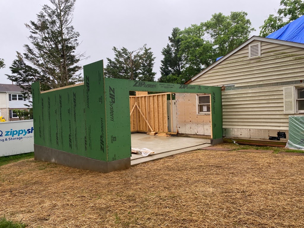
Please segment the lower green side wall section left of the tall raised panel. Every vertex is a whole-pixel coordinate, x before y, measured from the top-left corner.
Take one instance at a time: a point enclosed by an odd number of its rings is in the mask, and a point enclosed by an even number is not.
[[[35,144],[85,156],[83,88],[79,85],[40,94],[39,82],[33,83]]]

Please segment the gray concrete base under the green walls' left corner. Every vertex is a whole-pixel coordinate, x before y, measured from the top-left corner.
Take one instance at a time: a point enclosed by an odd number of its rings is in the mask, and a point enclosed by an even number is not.
[[[34,156],[35,160],[38,161],[52,162],[73,168],[92,170],[102,173],[124,170],[131,167],[130,157],[117,161],[106,162],[36,144],[34,144]]]

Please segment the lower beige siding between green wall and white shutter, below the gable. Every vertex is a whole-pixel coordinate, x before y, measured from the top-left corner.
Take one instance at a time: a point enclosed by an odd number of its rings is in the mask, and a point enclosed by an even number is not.
[[[223,128],[288,130],[283,87],[222,92]]]

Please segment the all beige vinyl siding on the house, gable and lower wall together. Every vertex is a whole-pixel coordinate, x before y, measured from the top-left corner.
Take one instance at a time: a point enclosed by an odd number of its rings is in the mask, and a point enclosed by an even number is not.
[[[260,41],[250,44],[257,42]],[[288,130],[288,116],[291,114],[284,114],[283,86],[238,87],[304,80],[304,49],[261,42],[260,58],[249,59],[248,51],[246,45],[190,84],[234,85],[234,90],[222,92],[224,135],[267,139],[279,130]],[[242,134],[240,130],[246,133]],[[256,132],[254,136],[253,132]],[[260,133],[263,136],[259,136]]]

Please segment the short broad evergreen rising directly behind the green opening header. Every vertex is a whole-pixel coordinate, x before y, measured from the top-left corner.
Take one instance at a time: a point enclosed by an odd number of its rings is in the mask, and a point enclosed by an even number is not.
[[[151,48],[143,47],[129,51],[125,47],[113,47],[114,59],[107,58],[105,77],[123,78],[129,80],[154,81],[154,59]]]

